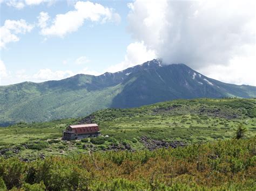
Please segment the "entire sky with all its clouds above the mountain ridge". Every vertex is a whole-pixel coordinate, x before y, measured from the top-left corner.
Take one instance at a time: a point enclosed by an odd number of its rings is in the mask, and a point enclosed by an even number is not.
[[[0,0],[0,86],[154,58],[256,86],[255,1]]]

